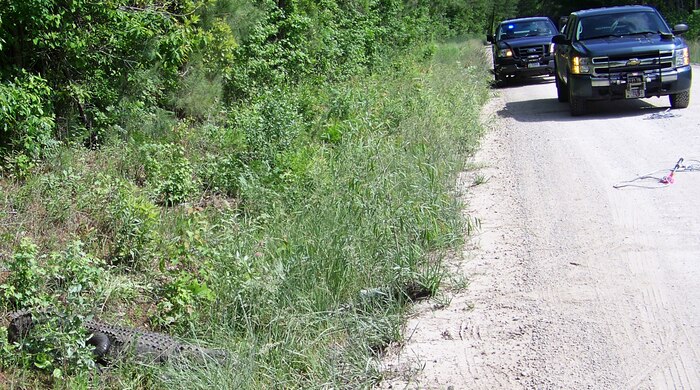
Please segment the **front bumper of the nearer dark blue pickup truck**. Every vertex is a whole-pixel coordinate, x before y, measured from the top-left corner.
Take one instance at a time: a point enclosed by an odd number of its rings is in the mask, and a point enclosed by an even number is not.
[[[641,76],[644,80],[645,98],[673,95],[690,90],[692,70],[690,66],[638,73],[617,73],[609,75],[571,75],[569,83],[572,94],[588,100],[612,100],[627,98],[627,79]],[[642,96],[639,96],[642,97]]]

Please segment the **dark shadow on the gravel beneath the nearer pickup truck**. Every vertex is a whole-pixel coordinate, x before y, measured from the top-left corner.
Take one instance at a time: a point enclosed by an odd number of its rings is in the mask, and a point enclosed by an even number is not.
[[[663,100],[660,100],[663,99]],[[661,107],[650,101],[661,103]],[[588,113],[583,116],[571,116],[568,103],[560,103],[556,97],[507,102],[505,108],[498,111],[501,117],[513,118],[518,122],[541,121],[587,121],[625,117],[644,117],[663,112],[668,106],[668,98],[650,98],[644,100],[594,101],[588,103]],[[664,103],[666,106],[664,106]]]

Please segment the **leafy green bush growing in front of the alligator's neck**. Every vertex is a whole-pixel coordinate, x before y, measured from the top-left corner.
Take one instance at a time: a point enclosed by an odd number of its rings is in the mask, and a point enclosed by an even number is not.
[[[10,277],[0,286],[5,309],[31,308],[32,330],[3,344],[0,361],[47,371],[55,378],[94,369],[92,347],[82,326],[100,303],[102,262],[79,241],[50,256],[38,256],[23,240],[9,262]],[[16,335],[17,336],[17,335]]]

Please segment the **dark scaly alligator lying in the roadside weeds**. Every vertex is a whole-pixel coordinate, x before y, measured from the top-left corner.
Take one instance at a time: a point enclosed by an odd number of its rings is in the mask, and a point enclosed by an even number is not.
[[[56,314],[34,310],[10,313],[7,328],[9,341],[17,342],[26,337],[34,324],[46,315]],[[110,325],[95,320],[83,320],[83,326],[90,333],[88,344],[94,347],[93,354],[99,362],[109,362],[124,356],[153,362],[176,358],[221,361],[228,356],[224,350],[183,343],[163,333]]]

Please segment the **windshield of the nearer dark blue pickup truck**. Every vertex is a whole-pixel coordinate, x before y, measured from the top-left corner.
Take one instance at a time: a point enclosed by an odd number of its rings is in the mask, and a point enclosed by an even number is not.
[[[633,11],[581,18],[576,29],[576,40],[650,33],[669,34],[670,31],[657,13]]]

